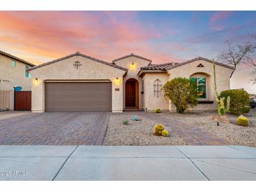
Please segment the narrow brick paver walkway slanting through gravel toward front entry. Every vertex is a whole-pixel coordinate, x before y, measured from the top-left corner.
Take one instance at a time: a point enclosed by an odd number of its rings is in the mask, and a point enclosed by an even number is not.
[[[151,118],[157,123],[161,123],[170,130],[173,130],[175,134],[179,135],[188,145],[228,145],[224,139],[221,139],[215,135],[211,135],[208,132],[201,130],[194,125],[189,125],[181,121],[176,121],[170,118],[164,118],[161,114],[143,113],[143,116]]]

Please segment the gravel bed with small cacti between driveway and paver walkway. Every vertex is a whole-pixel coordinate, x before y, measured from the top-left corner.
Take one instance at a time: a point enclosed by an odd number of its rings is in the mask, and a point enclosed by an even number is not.
[[[132,121],[132,114],[113,115],[109,118],[107,133],[103,145],[185,145],[182,138],[166,128],[169,137],[153,135],[155,121],[140,116],[140,121]],[[129,125],[123,125],[128,119]]]

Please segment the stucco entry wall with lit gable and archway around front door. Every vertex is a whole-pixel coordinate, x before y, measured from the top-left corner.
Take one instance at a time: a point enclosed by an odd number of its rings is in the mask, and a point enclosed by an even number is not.
[[[132,67],[133,63],[134,63],[134,67]],[[128,73],[123,78],[123,107],[126,107],[125,83],[129,78],[135,78],[139,83],[139,108],[144,109],[144,102],[143,102],[144,95],[142,94],[142,78],[137,76],[137,73],[140,71],[140,67],[146,67],[149,64],[149,61],[131,56],[122,60],[118,60],[115,62],[115,64],[128,69]]]

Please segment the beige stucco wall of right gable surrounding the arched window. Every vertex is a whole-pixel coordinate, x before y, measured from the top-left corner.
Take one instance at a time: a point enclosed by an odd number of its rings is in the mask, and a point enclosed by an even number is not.
[[[203,64],[204,67],[197,67],[198,64]],[[220,94],[222,90],[230,89],[230,74],[232,69],[227,67],[222,67],[220,65],[216,66],[216,83],[217,83],[217,92]],[[204,60],[197,60],[188,64],[184,64],[180,67],[170,69],[168,71],[170,74],[169,81],[175,77],[195,77],[195,76],[204,76],[206,77],[206,100],[215,101],[215,92],[214,92],[214,79],[213,79],[213,64],[206,62]],[[203,100],[203,99],[202,99]],[[175,108],[172,104],[169,105],[170,111],[174,111]],[[197,107],[191,110],[214,110],[216,109],[216,104],[198,104]]]

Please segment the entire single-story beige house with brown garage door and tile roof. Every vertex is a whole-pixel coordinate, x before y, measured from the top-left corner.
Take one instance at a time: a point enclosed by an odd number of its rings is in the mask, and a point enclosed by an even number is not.
[[[194,110],[214,110],[213,63],[203,57],[182,63],[151,64],[139,55],[112,63],[74,53],[28,69],[32,74],[32,111],[112,111],[175,108],[161,87],[172,78],[198,83],[199,104]],[[216,62],[217,89],[229,89],[234,68]]]

